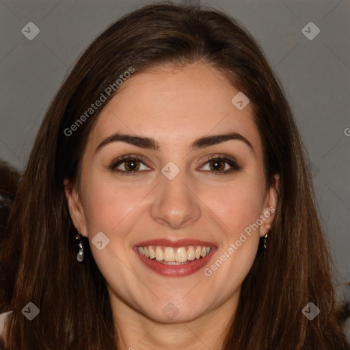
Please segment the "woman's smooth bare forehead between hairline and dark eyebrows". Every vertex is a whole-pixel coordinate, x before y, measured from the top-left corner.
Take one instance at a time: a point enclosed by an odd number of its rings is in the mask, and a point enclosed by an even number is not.
[[[239,110],[232,103],[237,93],[218,70],[202,63],[134,73],[100,112],[89,144],[122,132],[153,137],[165,150],[234,131],[260,150],[251,106]]]

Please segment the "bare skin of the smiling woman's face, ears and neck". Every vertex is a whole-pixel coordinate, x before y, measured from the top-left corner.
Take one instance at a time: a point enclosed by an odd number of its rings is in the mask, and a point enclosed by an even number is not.
[[[273,213],[241,243],[235,243],[260,215],[276,207],[276,187],[266,189],[262,145],[252,109],[237,109],[237,94],[217,70],[201,62],[185,68],[163,67],[132,75],[105,106],[83,154],[80,191],[66,196],[76,228],[88,237],[94,259],[107,280],[120,349],[219,350],[224,331],[239,301],[241,284],[252,267],[258,241]],[[114,133],[152,137],[159,150],[125,142],[98,145]],[[240,139],[191,150],[199,137],[239,133]],[[111,170],[124,155],[137,155]],[[234,159],[239,170],[209,158]],[[168,162],[180,171],[169,180],[161,170]],[[214,162],[215,163],[215,162]],[[117,171],[120,170],[121,172]],[[219,169],[219,170],[217,170]],[[225,172],[226,174],[213,174]],[[266,216],[266,215],[265,215]],[[109,244],[98,250],[98,232]],[[169,277],[146,267],[133,247],[152,239],[199,239],[217,247],[207,269],[226,252],[226,261],[211,275],[204,268]],[[207,270],[208,271],[208,270]],[[163,309],[174,304],[170,319]]]

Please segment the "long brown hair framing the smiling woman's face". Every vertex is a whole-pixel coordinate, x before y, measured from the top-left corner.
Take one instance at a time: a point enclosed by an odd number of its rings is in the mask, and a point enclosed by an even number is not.
[[[71,135],[66,130],[129,68],[137,74],[198,61],[224,72],[249,96],[267,186],[280,174],[269,251],[258,250],[223,349],[347,349],[307,153],[278,78],[257,42],[233,18],[169,1],[146,5],[103,31],[46,113],[0,256],[5,286],[0,310],[14,310],[9,349],[118,349],[105,279],[84,238],[85,259],[77,262],[76,230],[64,194],[65,177],[79,183],[87,135],[102,108]],[[105,94],[105,104],[113,94]],[[21,313],[29,301],[40,309],[32,321]],[[301,312],[309,302],[321,310],[312,321]]]

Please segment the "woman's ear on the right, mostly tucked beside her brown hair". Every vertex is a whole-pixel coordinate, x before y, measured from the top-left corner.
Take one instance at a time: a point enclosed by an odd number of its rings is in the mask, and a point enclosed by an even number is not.
[[[280,175],[273,175],[273,181],[265,198],[264,208],[262,210],[262,225],[260,226],[260,237],[264,237],[267,229],[271,228],[273,217],[277,208],[278,189],[280,186]]]

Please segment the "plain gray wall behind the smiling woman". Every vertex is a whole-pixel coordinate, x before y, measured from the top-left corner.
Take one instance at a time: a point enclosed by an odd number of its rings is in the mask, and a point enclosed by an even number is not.
[[[46,108],[77,58],[110,23],[146,3],[0,1],[0,159],[25,168]],[[282,81],[310,155],[339,282],[349,281],[350,0],[201,3],[243,24]],[[301,32],[310,21],[320,29],[313,40]],[[33,40],[21,32],[29,22],[40,29]]]

